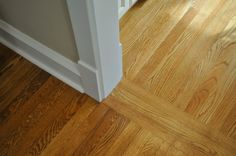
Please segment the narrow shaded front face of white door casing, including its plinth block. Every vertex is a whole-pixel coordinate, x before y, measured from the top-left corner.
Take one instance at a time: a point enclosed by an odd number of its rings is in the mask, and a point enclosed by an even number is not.
[[[85,0],[67,0],[67,6],[80,60],[80,72],[85,92],[98,101],[103,99],[94,54],[88,6]],[[89,70],[87,70],[89,69]]]

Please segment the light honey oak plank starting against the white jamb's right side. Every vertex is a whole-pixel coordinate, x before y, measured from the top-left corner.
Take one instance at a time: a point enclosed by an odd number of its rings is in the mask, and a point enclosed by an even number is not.
[[[170,4],[163,4],[163,6],[160,6],[160,9],[157,10],[155,16],[152,16],[155,18],[152,19],[150,23],[148,23],[148,26],[144,27],[148,29],[146,29],[143,33],[137,32],[140,37],[133,43],[131,48],[124,50],[123,68],[124,76],[126,76],[126,78],[133,79],[136,76],[146,61],[153,55],[156,48],[165,39],[165,36],[170,33],[172,28],[176,25],[176,23],[179,22],[179,20],[185,14],[185,11],[189,8],[189,3],[187,3],[187,1],[180,1],[178,4],[176,4],[176,1],[167,1],[166,3]],[[174,14],[175,16],[172,17],[170,14]],[[192,15],[194,16],[194,13],[187,16],[190,16],[189,18],[191,18]],[[171,20],[172,18],[173,20]],[[124,38],[128,38],[127,34],[124,34],[124,36]],[[130,41],[121,41],[124,45],[131,44]]]

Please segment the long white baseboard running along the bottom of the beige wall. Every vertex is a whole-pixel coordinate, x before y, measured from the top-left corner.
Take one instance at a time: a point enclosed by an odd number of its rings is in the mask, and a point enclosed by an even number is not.
[[[69,86],[84,93],[80,65],[2,20],[0,20],[0,42]],[[83,68],[86,70],[86,67]]]

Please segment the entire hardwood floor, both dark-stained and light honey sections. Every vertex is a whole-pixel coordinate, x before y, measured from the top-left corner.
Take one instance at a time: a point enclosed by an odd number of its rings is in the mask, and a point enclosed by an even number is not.
[[[236,1],[139,0],[102,103],[0,45],[0,155],[236,155]]]

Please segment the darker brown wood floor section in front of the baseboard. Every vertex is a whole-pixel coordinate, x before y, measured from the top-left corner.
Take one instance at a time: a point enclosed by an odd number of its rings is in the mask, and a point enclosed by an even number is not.
[[[44,155],[86,155],[96,143],[114,142],[127,125],[3,45],[0,58],[0,155],[39,155],[47,146]]]

